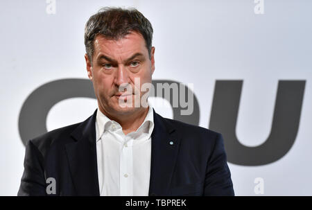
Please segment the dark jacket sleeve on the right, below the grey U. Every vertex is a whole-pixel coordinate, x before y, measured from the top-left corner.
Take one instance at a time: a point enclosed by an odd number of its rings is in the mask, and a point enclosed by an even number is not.
[[[204,195],[234,195],[222,135],[217,134],[215,141],[207,164]]]

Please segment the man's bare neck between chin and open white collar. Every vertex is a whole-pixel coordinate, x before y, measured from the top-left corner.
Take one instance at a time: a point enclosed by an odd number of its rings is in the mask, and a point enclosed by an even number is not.
[[[144,122],[146,115],[148,114],[149,107],[141,107],[137,112],[131,114],[125,114],[121,116],[112,116],[106,112],[103,112],[110,120],[116,121],[123,128],[123,133],[128,134],[130,132],[136,131],[140,125]]]

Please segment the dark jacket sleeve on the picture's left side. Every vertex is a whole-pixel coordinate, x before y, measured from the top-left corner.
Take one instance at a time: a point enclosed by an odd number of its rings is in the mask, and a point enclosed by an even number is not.
[[[30,140],[26,143],[24,173],[21,177],[18,196],[46,195],[44,178],[44,158]]]

